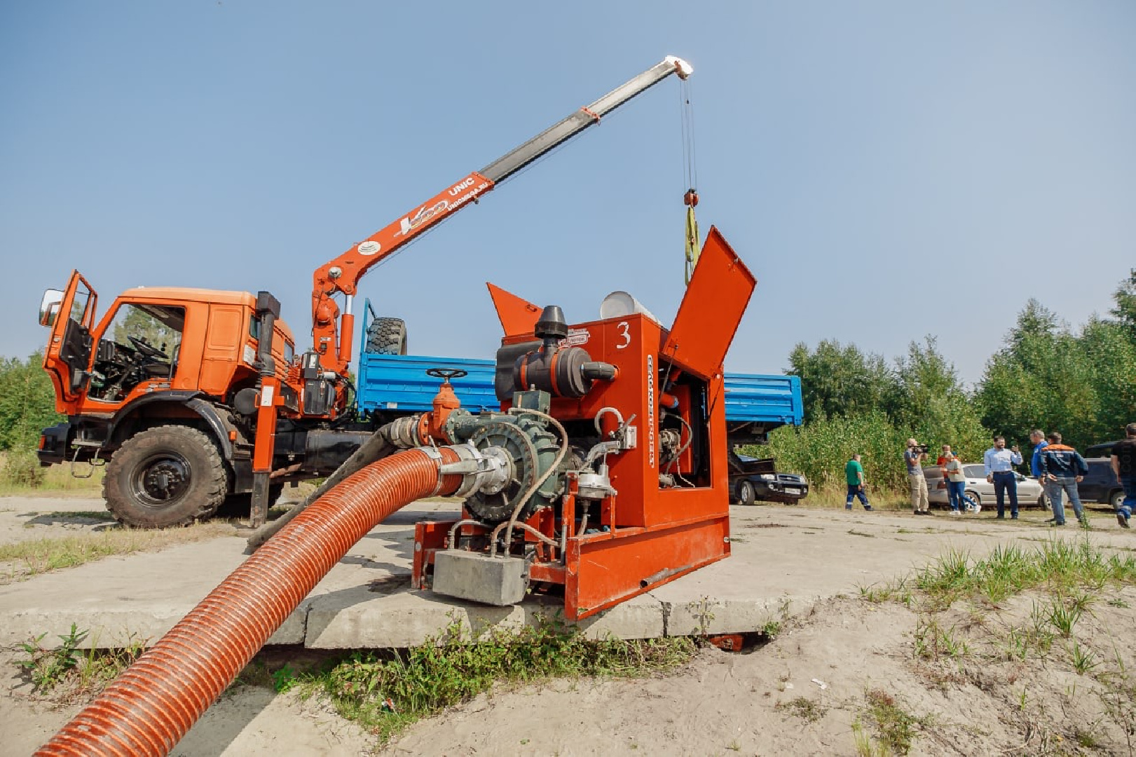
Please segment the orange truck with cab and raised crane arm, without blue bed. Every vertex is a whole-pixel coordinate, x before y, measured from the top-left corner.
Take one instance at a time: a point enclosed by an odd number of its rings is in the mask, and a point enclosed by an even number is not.
[[[128,525],[192,523],[228,498],[259,526],[285,483],[335,472],[375,431],[350,411],[362,275],[635,95],[691,72],[667,57],[317,268],[312,347],[299,356],[268,292],[136,288],[99,318],[95,291],[73,272],[40,306],[50,328],[43,367],[67,416],[43,431],[41,464],[106,463],[107,507]],[[401,322],[379,319],[370,335],[373,351],[406,352]]]

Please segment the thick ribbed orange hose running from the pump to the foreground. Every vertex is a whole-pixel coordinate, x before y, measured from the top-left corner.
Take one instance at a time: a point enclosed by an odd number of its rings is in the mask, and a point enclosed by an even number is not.
[[[431,450],[433,451],[433,450]],[[458,454],[374,463],[300,513],[118,676],[36,755],[168,755],[357,541],[416,499],[456,491]]]

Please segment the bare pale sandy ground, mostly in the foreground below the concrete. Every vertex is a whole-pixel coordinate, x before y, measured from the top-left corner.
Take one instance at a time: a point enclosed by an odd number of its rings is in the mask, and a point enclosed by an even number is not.
[[[0,499],[0,543],[103,527],[103,521],[67,515],[99,506],[73,498]],[[763,510],[751,508],[745,516],[760,523]],[[949,522],[875,517],[921,530]],[[1097,521],[1102,527],[1110,522]],[[862,541],[854,530],[824,534]],[[1037,524],[1020,531],[1022,539],[1039,534]],[[950,539],[944,531],[944,549]],[[1136,539],[1130,547],[1118,543],[1120,550],[1136,550]],[[825,552],[818,541],[817,559]],[[897,565],[896,572],[907,567]],[[382,749],[319,702],[240,687],[226,692],[173,754],[855,755],[855,724],[879,735],[869,714],[871,691],[914,718],[914,755],[1136,754],[1136,737],[1126,733],[1136,723],[1136,701],[1126,698],[1110,709],[1110,691],[1072,671],[1071,640],[1058,639],[1045,659],[1000,657],[1008,629],[1027,623],[1042,600],[1027,594],[983,613],[955,606],[939,614],[938,622],[966,640],[972,654],[925,659],[914,654],[914,640],[925,632],[926,615],[853,596],[830,598],[807,616],[788,619],[780,635],[755,649],[709,649],[668,676],[499,690],[416,724]],[[1080,622],[1077,640],[1095,650],[1096,672],[1109,666],[1136,671],[1133,608],[1136,590],[1106,589]],[[20,656],[0,652],[0,755],[31,754],[80,709],[36,697],[16,665]]]

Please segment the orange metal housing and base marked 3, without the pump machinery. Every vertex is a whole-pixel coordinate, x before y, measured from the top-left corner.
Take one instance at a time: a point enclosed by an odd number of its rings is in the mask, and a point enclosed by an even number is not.
[[[551,415],[561,423],[592,421],[602,408],[616,408],[636,427],[637,443],[608,457],[617,494],[592,514],[590,523],[600,531],[590,527],[587,533],[570,535],[562,563],[537,559],[529,569],[531,581],[563,584],[568,619],[593,615],[729,555],[722,363],[755,283],[726,240],[711,228],[670,331],[638,313],[570,326],[568,341],[586,349],[593,360],[615,365],[618,374],[613,381],[596,382],[580,399],[554,398]],[[502,343],[531,341],[532,331],[520,331],[532,314],[518,306],[524,300],[508,292],[507,298],[493,294],[495,302],[508,308],[499,313],[508,334]],[[667,386],[671,381],[674,386]],[[708,463],[699,469],[692,467],[690,452],[670,465],[660,459],[660,394],[665,391],[678,399],[677,411],[700,440],[700,455]],[[676,485],[662,485],[660,474],[680,479]],[[685,484],[678,483],[682,480]],[[571,483],[568,489],[560,523],[571,529],[578,504]],[[444,548],[451,525],[418,524],[415,587],[428,582],[433,552]],[[553,535],[541,510],[528,525]],[[478,526],[462,529],[474,533]]]

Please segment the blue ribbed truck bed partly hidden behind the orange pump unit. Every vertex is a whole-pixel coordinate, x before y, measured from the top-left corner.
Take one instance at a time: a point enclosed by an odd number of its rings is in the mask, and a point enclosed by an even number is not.
[[[358,402],[361,413],[399,416],[429,410],[441,381],[427,368],[461,368],[468,375],[454,378],[453,391],[470,413],[499,410],[493,392],[493,360],[428,355],[359,356]],[[746,373],[726,373],[726,424],[733,441],[762,441],[783,425],[800,425],[801,380]]]

